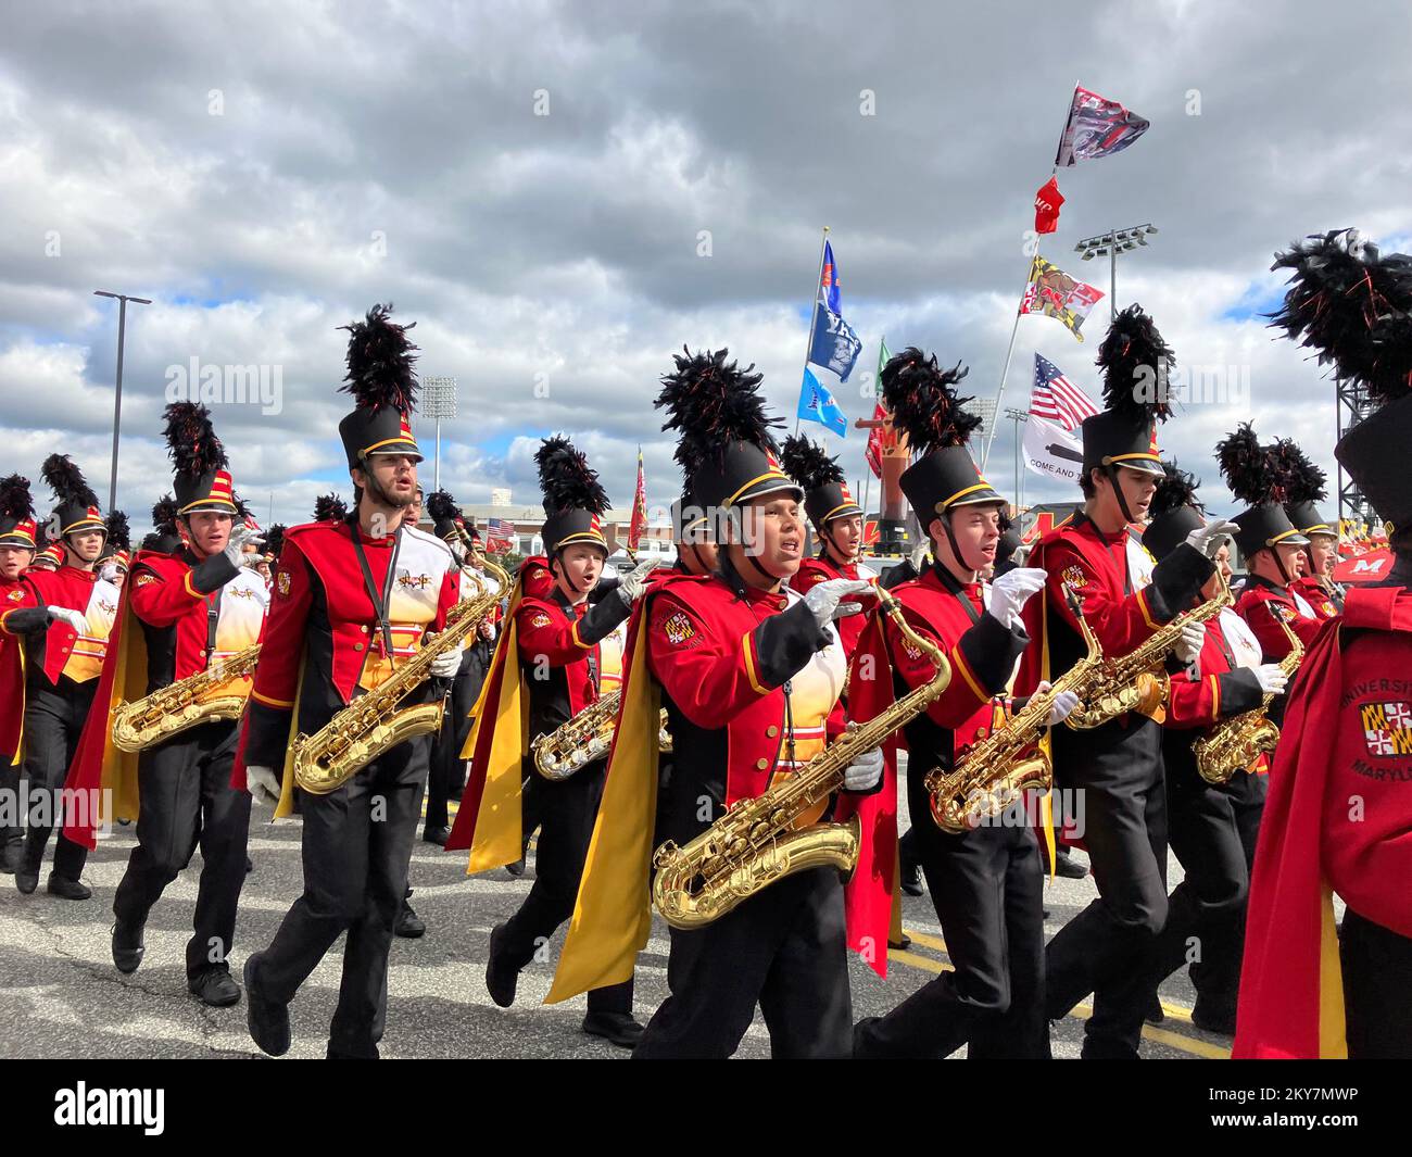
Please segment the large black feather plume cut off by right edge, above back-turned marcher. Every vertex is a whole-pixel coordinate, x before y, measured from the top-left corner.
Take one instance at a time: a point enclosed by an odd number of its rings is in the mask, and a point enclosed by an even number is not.
[[[1292,271],[1271,328],[1377,404],[1412,394],[1412,257],[1382,257],[1356,229],[1336,229],[1295,242],[1271,268]]]

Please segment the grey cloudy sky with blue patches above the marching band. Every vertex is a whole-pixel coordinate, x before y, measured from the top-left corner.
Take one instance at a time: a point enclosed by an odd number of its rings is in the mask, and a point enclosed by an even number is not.
[[[195,359],[278,381],[273,407],[213,410],[237,489],[302,521],[350,489],[337,326],[393,301],[422,373],[459,380],[457,499],[534,502],[537,439],[565,431],[618,504],[641,444],[665,503],[650,400],[683,343],[758,363],[792,428],[825,225],[864,340],[850,420],[882,335],[966,362],[991,397],[1079,81],[1152,127],[1059,175],[1042,251],[1106,290],[1075,242],[1159,226],[1121,260],[1118,301],[1179,366],[1248,383],[1162,435],[1228,510],[1210,448],[1243,418],[1333,468],[1333,384],[1265,328],[1268,268],[1350,225],[1405,247],[1409,20],[1151,0],[25,6],[0,44],[3,469],[47,503],[38,463],[66,449],[106,504],[117,307],[93,291],[127,292],[152,304],[128,311],[119,506],[141,528],[168,489],[164,393]],[[1083,345],[1024,318],[1005,403],[1028,398],[1036,350],[1097,397],[1106,307]],[[863,476],[858,431],[806,429]],[[1012,449],[1005,422],[988,473],[1007,492]],[[1025,497],[1070,494],[1031,475]]]

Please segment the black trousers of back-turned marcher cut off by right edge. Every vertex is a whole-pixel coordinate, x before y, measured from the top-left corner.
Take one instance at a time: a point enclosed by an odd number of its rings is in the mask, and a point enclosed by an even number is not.
[[[1406,887],[1406,880],[1398,882]],[[1339,935],[1343,1010],[1351,1061],[1412,1060],[1412,938],[1353,908]]]

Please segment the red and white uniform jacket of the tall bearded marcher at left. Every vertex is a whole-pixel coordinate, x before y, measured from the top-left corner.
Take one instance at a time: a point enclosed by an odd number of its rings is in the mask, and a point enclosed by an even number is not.
[[[380,599],[397,544],[391,655],[376,626],[378,609],[367,592],[354,534]],[[284,766],[295,712],[298,729],[313,735],[356,694],[377,687],[417,654],[422,634],[445,626],[457,591],[450,550],[424,531],[402,527],[398,535],[370,538],[354,521],[289,527],[232,783],[244,788],[247,763]],[[422,698],[426,694],[424,687]],[[417,701],[414,695],[408,702]]]

